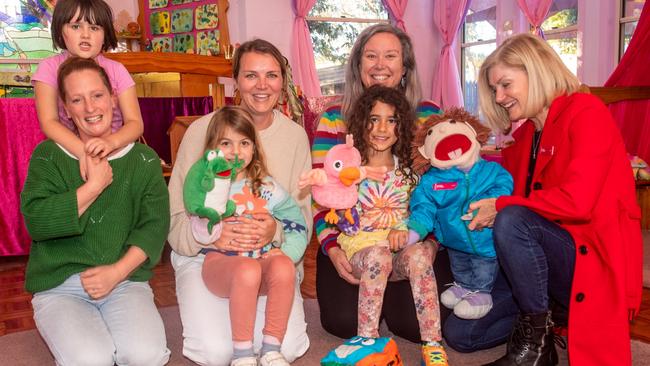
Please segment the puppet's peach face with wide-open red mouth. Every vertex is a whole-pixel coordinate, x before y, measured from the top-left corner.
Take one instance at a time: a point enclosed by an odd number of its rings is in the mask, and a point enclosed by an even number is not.
[[[424,145],[418,150],[439,169],[458,167],[467,170],[478,160],[481,145],[476,131],[466,122],[452,119],[429,128]]]

